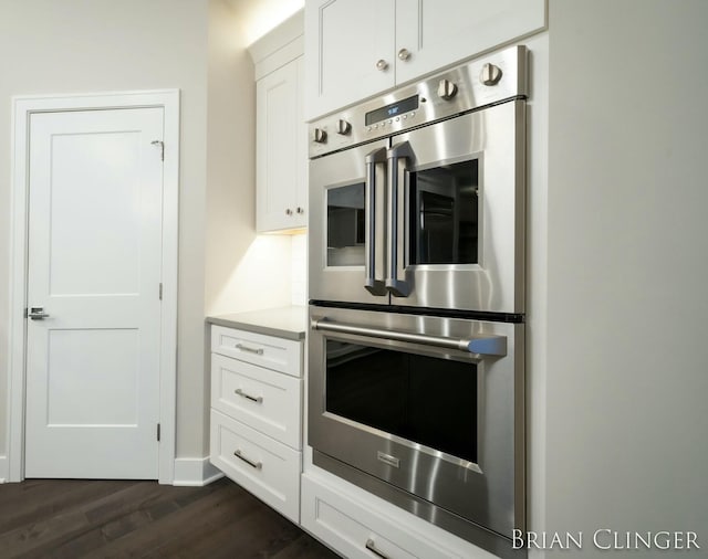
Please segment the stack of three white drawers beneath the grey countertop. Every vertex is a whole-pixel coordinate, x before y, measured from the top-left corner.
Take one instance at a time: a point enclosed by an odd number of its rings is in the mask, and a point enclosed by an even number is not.
[[[211,463],[294,523],[302,472],[302,341],[211,326]]]

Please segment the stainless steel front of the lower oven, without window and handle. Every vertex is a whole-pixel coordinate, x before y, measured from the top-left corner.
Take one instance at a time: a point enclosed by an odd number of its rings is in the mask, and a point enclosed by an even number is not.
[[[311,330],[309,444],[384,485],[410,494],[414,500],[435,504],[506,538],[511,538],[514,528],[523,530],[523,325],[314,306],[310,307],[310,314],[312,321],[343,323],[362,328],[362,333],[374,328],[460,339],[506,337],[506,357],[483,357],[416,341]],[[327,412],[327,339],[475,363],[478,371],[477,462],[450,456]],[[379,460],[379,453],[398,460],[398,467]],[[436,523],[435,518],[430,521]]]

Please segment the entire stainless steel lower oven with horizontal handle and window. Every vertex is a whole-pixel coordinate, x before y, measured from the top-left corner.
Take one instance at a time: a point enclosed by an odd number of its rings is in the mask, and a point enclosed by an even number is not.
[[[391,310],[310,307],[313,462],[513,556],[525,528],[523,324]]]

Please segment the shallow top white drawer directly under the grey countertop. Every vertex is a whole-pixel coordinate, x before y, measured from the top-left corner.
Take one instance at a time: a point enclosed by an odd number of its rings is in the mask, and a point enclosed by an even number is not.
[[[211,325],[211,351],[292,377],[302,376],[302,342]]]

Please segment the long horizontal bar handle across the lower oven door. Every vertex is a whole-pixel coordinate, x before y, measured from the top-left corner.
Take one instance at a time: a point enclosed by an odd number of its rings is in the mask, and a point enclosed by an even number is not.
[[[446,338],[442,336],[430,336],[428,334],[417,334],[413,331],[382,330],[369,328],[368,326],[356,326],[353,324],[334,323],[327,318],[313,319],[311,323],[313,330],[333,331],[337,334],[352,334],[354,336],[366,336],[369,338],[389,339],[394,341],[409,341],[425,346],[435,346],[446,349],[459,349],[470,354],[481,356],[506,356],[507,337],[496,335],[475,336],[471,338]]]

